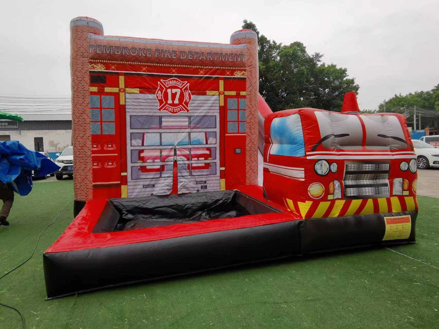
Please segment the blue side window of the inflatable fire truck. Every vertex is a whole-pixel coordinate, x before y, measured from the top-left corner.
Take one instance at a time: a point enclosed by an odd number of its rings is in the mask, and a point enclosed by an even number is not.
[[[273,145],[270,154],[303,156],[305,143],[303,141],[302,122],[299,114],[273,119],[270,127]]]

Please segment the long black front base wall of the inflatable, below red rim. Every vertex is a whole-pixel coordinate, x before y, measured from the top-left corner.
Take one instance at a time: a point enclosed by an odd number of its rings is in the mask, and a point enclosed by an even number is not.
[[[410,215],[408,239],[383,241],[384,217]],[[47,299],[331,249],[414,242],[417,212],[287,221],[123,246],[44,253]]]

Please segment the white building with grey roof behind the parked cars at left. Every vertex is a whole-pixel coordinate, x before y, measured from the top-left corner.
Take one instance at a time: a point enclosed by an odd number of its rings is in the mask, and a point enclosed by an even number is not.
[[[24,121],[0,120],[0,141],[19,141],[52,158],[72,145],[71,114],[23,114]]]

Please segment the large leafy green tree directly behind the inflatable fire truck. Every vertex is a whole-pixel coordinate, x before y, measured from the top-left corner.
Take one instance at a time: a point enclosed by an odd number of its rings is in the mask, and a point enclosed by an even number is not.
[[[273,111],[313,107],[340,112],[344,94],[358,92],[347,69],[325,64],[323,54],[308,54],[299,41],[283,45],[269,40],[247,20],[242,28],[258,35],[259,93]]]

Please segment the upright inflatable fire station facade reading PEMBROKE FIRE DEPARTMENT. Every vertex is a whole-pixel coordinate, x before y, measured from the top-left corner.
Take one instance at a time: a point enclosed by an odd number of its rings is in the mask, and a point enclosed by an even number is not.
[[[223,44],[104,36],[87,17],[70,28],[75,214],[95,197],[257,184],[255,32]]]

